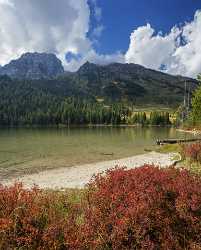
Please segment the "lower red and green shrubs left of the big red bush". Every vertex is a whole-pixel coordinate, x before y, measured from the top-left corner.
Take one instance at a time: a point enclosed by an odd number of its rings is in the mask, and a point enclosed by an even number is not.
[[[79,215],[62,194],[0,186],[0,249],[78,249]]]

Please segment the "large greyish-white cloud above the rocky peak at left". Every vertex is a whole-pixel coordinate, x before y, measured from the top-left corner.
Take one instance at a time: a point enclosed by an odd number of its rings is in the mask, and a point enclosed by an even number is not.
[[[0,64],[24,52],[65,53],[91,48],[87,0],[0,0]]]

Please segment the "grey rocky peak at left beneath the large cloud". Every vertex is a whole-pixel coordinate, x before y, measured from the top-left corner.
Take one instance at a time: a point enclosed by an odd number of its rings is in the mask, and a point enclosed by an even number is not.
[[[64,73],[61,61],[48,53],[25,53],[0,68],[0,75],[14,79],[55,78]]]

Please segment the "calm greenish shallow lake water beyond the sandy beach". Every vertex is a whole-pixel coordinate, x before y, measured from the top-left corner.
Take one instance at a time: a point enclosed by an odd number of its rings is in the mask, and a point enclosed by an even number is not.
[[[0,180],[47,168],[118,159],[154,149],[156,139],[185,138],[174,128],[0,129]]]

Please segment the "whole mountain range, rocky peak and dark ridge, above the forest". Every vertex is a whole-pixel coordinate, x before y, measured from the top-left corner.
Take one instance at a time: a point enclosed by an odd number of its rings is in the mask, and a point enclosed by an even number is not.
[[[20,89],[23,86],[27,89],[31,86],[34,91],[38,89],[56,98],[74,96],[97,102],[137,105],[178,105],[183,101],[185,83],[190,93],[197,86],[195,79],[132,63],[102,66],[86,62],[77,72],[64,72],[61,61],[54,54],[47,53],[26,53],[0,68],[0,75],[10,78],[8,82],[12,88],[20,85]],[[0,80],[0,87],[4,79]]]

